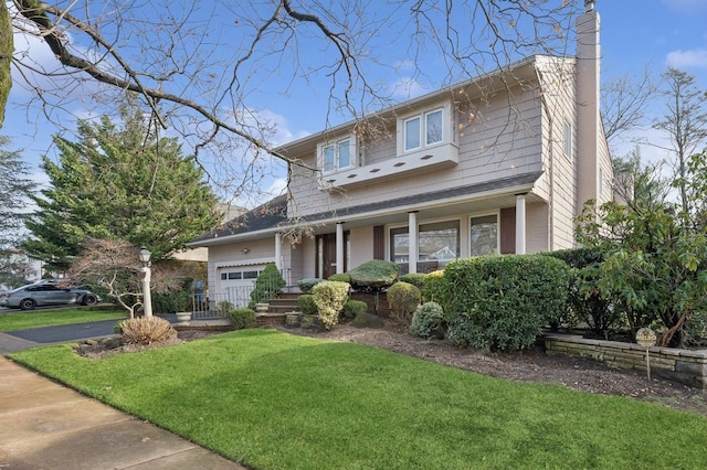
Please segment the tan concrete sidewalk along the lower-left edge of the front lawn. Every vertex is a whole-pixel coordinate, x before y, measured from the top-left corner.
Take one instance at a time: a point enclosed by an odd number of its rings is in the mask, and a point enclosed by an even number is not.
[[[1,469],[244,469],[7,357],[0,377]]]

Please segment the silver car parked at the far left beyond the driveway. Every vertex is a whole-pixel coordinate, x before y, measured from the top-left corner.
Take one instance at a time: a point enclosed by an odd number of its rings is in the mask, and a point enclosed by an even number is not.
[[[18,287],[0,297],[0,307],[32,310],[35,307],[97,303],[98,296],[86,289],[62,289],[54,282],[39,281]]]

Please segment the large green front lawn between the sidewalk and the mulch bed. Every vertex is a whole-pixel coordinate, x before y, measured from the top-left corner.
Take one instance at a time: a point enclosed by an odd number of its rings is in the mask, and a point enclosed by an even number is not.
[[[10,356],[256,469],[707,468],[699,415],[273,330]]]

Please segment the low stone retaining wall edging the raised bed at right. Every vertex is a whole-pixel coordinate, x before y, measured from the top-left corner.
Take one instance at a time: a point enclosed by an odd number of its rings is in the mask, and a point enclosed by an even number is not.
[[[645,348],[619,341],[589,340],[580,335],[547,333],[545,350],[550,355],[591,357],[614,368],[645,371]],[[707,389],[707,350],[690,351],[653,346],[651,375]]]

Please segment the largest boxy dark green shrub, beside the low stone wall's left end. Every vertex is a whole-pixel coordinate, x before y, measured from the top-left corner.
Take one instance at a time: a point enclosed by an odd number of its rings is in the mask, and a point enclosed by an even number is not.
[[[547,255],[453,261],[441,296],[450,339],[473,348],[527,348],[562,313],[569,281],[568,266]]]

